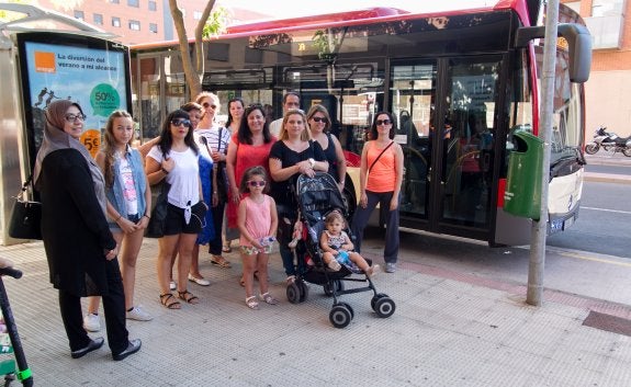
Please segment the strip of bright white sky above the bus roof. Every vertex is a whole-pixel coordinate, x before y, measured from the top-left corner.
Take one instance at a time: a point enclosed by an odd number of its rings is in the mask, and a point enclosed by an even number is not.
[[[269,14],[269,19],[285,19],[294,16],[307,16],[311,14],[335,13],[341,11],[360,10],[373,7],[398,8],[410,12],[420,12],[421,8],[467,5],[470,8],[496,3],[498,0],[294,0],[294,7],[288,7],[286,0],[216,0],[216,4],[226,8],[241,8],[262,14]],[[455,5],[458,4],[458,5]],[[270,12],[273,10],[273,13]]]

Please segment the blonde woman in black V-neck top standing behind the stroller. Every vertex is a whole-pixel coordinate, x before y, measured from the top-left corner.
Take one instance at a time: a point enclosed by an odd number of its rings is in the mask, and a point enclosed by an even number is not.
[[[319,143],[311,139],[303,111],[289,110],[285,113],[279,140],[270,150],[269,166],[272,177],[271,196],[277,202],[279,213],[279,250],[288,275],[286,281],[291,283],[297,274],[293,253],[288,246],[292,239],[291,229],[297,218],[297,202],[291,185],[295,184],[301,173],[313,178],[315,171],[328,171],[328,161]],[[298,260],[297,270],[304,271],[303,260]]]

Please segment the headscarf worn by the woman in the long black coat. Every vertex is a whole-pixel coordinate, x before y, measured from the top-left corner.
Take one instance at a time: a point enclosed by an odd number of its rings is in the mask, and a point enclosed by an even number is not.
[[[77,106],[81,114],[83,111],[81,106],[79,106],[75,102],[70,102],[68,100],[58,100],[48,105],[46,110],[46,126],[44,127],[44,139],[42,141],[42,146],[40,147],[40,151],[37,151],[37,158],[35,159],[35,169],[33,171],[33,182],[35,183],[35,187],[40,187],[40,174],[42,173],[42,163],[48,153],[59,150],[59,149],[76,149],[81,152],[86,161],[88,161],[88,166],[90,167],[90,173],[92,175],[92,182],[94,183],[94,192],[97,193],[97,198],[99,200],[99,204],[105,213],[105,179],[103,178],[103,173],[101,173],[101,169],[92,159],[92,156],[86,149],[86,147],[75,139],[72,136],[68,135],[64,132],[64,125],[66,119],[66,112],[70,106]]]

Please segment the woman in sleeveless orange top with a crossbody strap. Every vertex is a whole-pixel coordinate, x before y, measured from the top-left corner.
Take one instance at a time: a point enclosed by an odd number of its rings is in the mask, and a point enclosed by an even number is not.
[[[393,140],[394,133],[392,114],[379,112],[370,128],[369,141],[364,144],[361,152],[360,198],[352,221],[352,232],[357,238],[354,249],[360,252],[363,229],[370,214],[378,203],[381,208],[388,208],[385,215],[386,232],[383,252],[386,273],[396,271],[398,204],[403,182],[403,150]]]

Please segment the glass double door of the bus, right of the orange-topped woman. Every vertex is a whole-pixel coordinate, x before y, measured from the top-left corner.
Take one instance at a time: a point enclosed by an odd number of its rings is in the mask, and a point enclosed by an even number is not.
[[[485,56],[391,66],[402,226],[488,240],[500,65]]]

